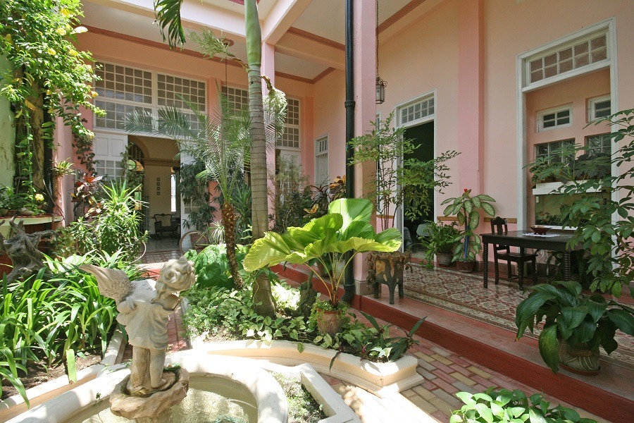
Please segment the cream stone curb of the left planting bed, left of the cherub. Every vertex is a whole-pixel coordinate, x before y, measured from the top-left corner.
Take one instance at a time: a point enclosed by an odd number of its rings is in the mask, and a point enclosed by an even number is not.
[[[123,351],[125,350],[126,343],[123,342],[124,339],[125,335],[123,332],[118,328],[115,329],[113,336],[108,343],[108,347],[106,348],[104,359],[101,360],[99,364],[94,364],[77,372],[76,382],[69,383],[68,376],[64,375],[51,381],[44,382],[44,384],[27,389],[27,398],[29,398],[31,408],[42,404],[47,400],[51,400],[51,398],[61,395],[66,391],[70,391],[70,389],[85,384],[87,381],[91,381],[97,377],[97,374],[99,374],[99,372],[103,369],[116,364],[123,356]],[[20,415],[27,410],[28,408],[20,394],[10,396],[5,400],[0,401],[0,422],[6,422],[6,420]]]

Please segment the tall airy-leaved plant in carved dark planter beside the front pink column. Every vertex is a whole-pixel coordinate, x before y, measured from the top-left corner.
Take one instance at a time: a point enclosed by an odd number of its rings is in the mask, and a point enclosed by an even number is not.
[[[381,228],[393,228],[394,216],[403,207],[409,219],[423,216],[430,209],[430,191],[442,190],[449,185],[445,162],[459,153],[448,151],[433,160],[407,158],[418,148],[405,137],[405,128],[392,128],[394,112],[385,121],[372,122],[371,133],[351,140],[356,150],[351,164],[371,161],[376,164],[376,178],[366,184],[366,195],[375,204]],[[402,284],[403,271],[409,252],[378,253],[368,255],[368,283],[373,283],[378,298],[378,282],[390,286]],[[377,264],[380,262],[380,264]],[[390,300],[393,304],[393,300]]]

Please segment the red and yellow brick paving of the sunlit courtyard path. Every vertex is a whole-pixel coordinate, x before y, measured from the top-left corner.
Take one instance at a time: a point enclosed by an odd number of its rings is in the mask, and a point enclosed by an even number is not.
[[[163,262],[174,258],[174,256],[178,257],[178,255],[178,252],[165,251],[146,255],[147,269],[157,271]],[[156,259],[156,262],[151,262],[151,259]],[[357,315],[359,316],[359,314]],[[380,321],[380,324],[385,323],[385,321]],[[402,333],[395,326],[392,326],[390,330],[395,331],[394,333]],[[168,333],[172,351],[189,348],[180,314],[177,313],[173,319],[170,319]],[[322,377],[335,391],[340,393],[363,423],[449,422],[451,410],[456,410],[461,406],[461,402],[454,396],[456,392],[475,393],[489,386],[511,390],[521,389],[526,393],[537,391],[535,388],[514,381],[493,369],[472,362],[419,336],[416,336],[416,340],[420,344],[412,348],[410,352],[418,357],[417,372],[425,378],[425,382],[402,393],[387,398],[378,398],[346,381],[326,374],[322,374]],[[566,405],[557,398],[549,397],[549,400],[553,403]],[[591,415],[578,407],[575,409],[583,417],[609,423],[609,420]]]

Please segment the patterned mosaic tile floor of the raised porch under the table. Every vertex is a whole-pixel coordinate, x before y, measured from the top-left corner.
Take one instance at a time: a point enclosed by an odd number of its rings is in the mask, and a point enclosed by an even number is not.
[[[412,264],[411,273],[405,273],[405,296],[412,300],[440,307],[457,314],[499,326],[515,333],[515,309],[526,297],[516,283],[500,280],[483,288],[482,276],[463,274],[449,269],[425,269]],[[526,332],[537,338],[539,331]],[[611,355],[602,350],[602,360],[634,369],[634,337],[617,332],[619,348]]]

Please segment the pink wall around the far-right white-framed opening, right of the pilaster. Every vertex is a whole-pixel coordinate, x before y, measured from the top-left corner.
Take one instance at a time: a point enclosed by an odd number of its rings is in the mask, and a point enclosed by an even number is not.
[[[634,102],[634,2],[533,0],[485,2],[485,192],[501,216],[517,215],[518,54],[616,17],[619,106]],[[538,23],[538,24],[536,24]],[[532,130],[532,128],[528,128]]]

